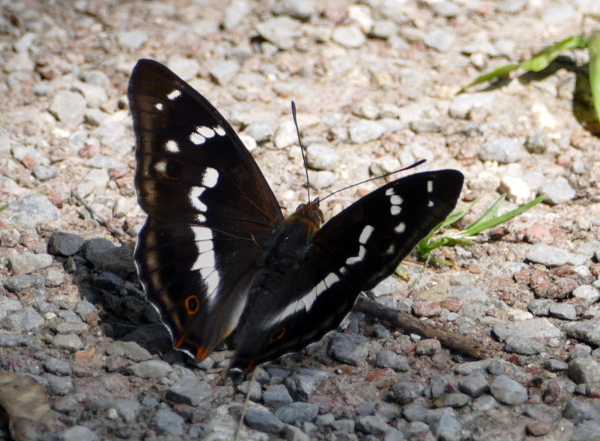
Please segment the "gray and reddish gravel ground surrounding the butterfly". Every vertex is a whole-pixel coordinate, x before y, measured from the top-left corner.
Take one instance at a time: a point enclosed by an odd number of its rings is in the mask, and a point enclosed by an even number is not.
[[[249,389],[248,440],[600,439],[600,143],[576,88],[587,53],[455,96],[483,71],[598,30],[597,0],[7,0],[0,11],[0,406],[15,439],[229,440]],[[465,174],[460,205],[481,202],[464,225],[501,192],[503,210],[546,195],[438,254],[452,266],[429,268],[410,297],[393,278],[369,293],[493,358],[356,312],[252,384],[221,377],[225,344],[202,363],[174,351],[132,261],[144,214],[125,93],[139,58],[220,109],[288,213],[306,198],[292,99],[321,196],[419,159]],[[328,199],[326,217],[375,186]]]

